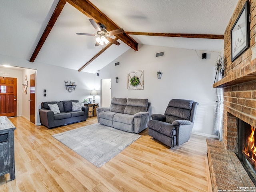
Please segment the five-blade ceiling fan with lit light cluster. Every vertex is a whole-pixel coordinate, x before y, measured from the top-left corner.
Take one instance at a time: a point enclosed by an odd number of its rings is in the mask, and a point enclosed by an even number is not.
[[[120,45],[120,43],[109,36],[117,35],[120,33],[123,33],[123,29],[115,29],[112,31],[107,31],[105,26],[103,24],[98,25],[93,19],[89,19],[92,26],[97,30],[97,34],[90,34],[90,33],[76,33],[78,35],[89,35],[89,36],[98,36],[96,38],[96,44],[95,46],[108,44],[108,42],[111,42],[115,45]]]

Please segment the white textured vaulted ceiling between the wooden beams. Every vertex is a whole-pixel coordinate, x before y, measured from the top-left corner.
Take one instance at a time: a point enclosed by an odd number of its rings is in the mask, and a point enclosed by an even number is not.
[[[124,31],[223,35],[238,0],[91,0]],[[0,55],[30,60],[58,0],[0,4]],[[106,26],[107,27],[107,26]],[[88,17],[66,3],[35,62],[80,69],[101,49]],[[139,44],[221,52],[223,40],[130,35]],[[113,37],[114,38],[114,37]],[[118,40],[84,72],[95,73],[130,49]]]

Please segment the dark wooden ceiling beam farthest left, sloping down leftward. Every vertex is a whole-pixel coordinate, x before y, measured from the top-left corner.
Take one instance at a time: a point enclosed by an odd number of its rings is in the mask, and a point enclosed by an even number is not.
[[[58,19],[58,16],[60,15],[62,9],[64,8],[64,5],[66,4],[66,1],[65,0],[60,0],[52,14],[52,17],[50,18],[45,30],[44,30],[44,33],[42,34],[37,46],[36,46],[36,49],[34,50],[31,58],[30,58],[30,62],[34,62],[34,60],[36,59],[36,56],[38,55],[39,51],[41,50],[46,38],[48,37],[48,35],[50,34],[56,20]]]

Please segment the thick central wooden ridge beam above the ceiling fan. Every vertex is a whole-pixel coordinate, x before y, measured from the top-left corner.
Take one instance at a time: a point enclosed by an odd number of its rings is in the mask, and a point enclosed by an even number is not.
[[[88,18],[93,19],[96,23],[104,24],[108,31],[120,28],[88,0],[66,0],[66,2],[88,16]],[[135,51],[138,51],[138,43],[127,34],[121,33],[115,36]]]

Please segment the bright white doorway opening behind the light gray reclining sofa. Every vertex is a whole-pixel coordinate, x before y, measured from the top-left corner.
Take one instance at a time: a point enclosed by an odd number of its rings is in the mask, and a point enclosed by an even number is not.
[[[111,79],[102,79],[100,82],[100,106],[109,107],[111,104]]]

